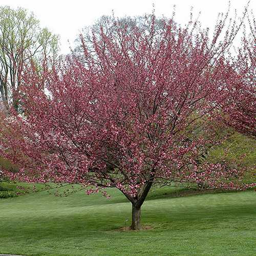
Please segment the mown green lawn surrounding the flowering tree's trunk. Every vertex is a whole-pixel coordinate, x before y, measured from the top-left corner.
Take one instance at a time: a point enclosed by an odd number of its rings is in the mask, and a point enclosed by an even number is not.
[[[174,197],[154,189],[142,206],[153,229],[119,231],[131,205],[119,191],[0,200],[0,253],[23,255],[255,255],[256,193]]]

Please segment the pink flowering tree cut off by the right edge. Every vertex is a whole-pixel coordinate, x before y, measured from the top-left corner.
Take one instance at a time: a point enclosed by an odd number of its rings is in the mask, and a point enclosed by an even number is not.
[[[224,105],[226,123],[237,131],[256,137],[255,113],[255,73],[256,73],[256,21],[253,14],[248,14],[249,33],[242,37],[242,45],[233,66],[238,71],[237,78],[229,87],[229,104]]]

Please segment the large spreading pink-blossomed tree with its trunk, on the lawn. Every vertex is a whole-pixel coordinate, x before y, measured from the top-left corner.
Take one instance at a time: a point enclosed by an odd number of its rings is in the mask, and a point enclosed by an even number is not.
[[[87,192],[116,187],[132,203],[132,229],[153,184],[200,183],[245,188],[232,182],[239,170],[201,161],[218,143],[220,106],[237,72],[225,52],[239,26],[227,16],[208,30],[197,22],[181,28],[173,19],[144,17],[150,30],[109,20],[115,33],[81,37],[83,59],[69,56],[54,72],[24,77],[24,115],[4,119],[1,149],[22,166],[13,179],[79,183]],[[94,34],[94,31],[92,31]]]

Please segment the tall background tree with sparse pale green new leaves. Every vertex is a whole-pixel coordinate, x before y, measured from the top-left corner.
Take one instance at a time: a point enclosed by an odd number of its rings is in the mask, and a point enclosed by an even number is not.
[[[56,60],[58,36],[39,27],[33,13],[26,9],[0,7],[0,92],[5,110],[17,109],[18,92],[25,66],[31,60]]]

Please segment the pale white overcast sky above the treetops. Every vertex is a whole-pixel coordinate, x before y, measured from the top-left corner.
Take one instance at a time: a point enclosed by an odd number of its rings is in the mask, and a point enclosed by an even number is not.
[[[247,0],[230,0],[232,9],[242,14]],[[205,27],[213,28],[219,12],[226,12],[228,0],[0,0],[0,6],[23,7],[32,11],[40,20],[41,27],[60,36],[62,54],[70,47],[81,29],[92,25],[100,16],[136,16],[151,13],[171,17],[176,5],[176,22],[185,24],[189,19],[190,7],[195,16],[201,11],[200,20]],[[251,0],[250,9],[256,11],[256,0]]]

